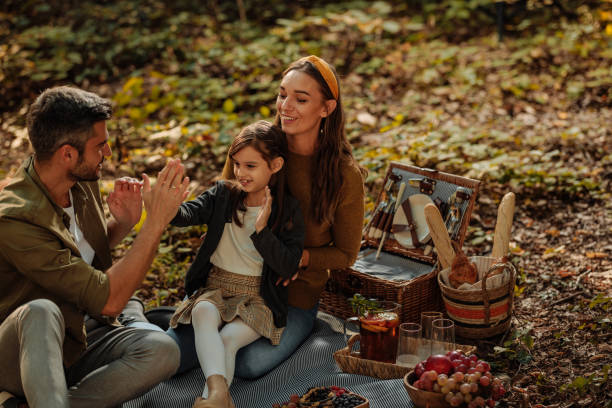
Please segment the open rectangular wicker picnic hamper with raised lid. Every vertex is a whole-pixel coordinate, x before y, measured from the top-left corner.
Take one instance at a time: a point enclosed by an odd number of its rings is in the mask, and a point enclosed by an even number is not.
[[[480,181],[400,162],[390,163],[383,185],[386,185],[389,179],[393,177],[401,178],[406,182],[417,178],[428,183],[427,186],[423,187],[408,185],[403,195],[404,201],[410,196],[421,194],[428,187],[431,188],[428,194],[432,199],[443,199],[443,201],[447,201],[458,189],[469,192],[469,198],[465,199],[460,205],[462,215],[456,233],[452,237],[459,245],[463,243],[478,195]],[[382,189],[379,192],[376,205],[380,204],[381,201],[388,201],[389,196],[392,195]],[[377,276],[368,268],[358,270],[356,265],[330,271],[330,278],[321,294],[320,309],[343,319],[354,316],[347,298],[352,297],[355,293],[360,293],[366,298],[399,303],[402,306],[402,322],[418,322],[421,312],[424,311],[443,311],[444,305],[436,280],[438,273],[437,255],[431,250],[431,244],[420,245],[417,248],[407,248],[396,240],[395,234],[391,233],[386,240],[383,240],[383,245],[380,245],[380,238],[372,238],[364,234],[362,251],[356,264],[360,262],[360,258],[362,260],[368,259],[368,253],[373,256],[372,252],[376,252],[376,249],[380,247],[383,255],[389,254],[401,259],[394,270],[394,272],[397,271],[395,276]],[[404,263],[402,264],[402,262]],[[378,263],[384,262],[381,260]],[[414,270],[415,268],[420,268],[418,276],[415,275],[409,279],[398,277],[401,275],[402,269]]]

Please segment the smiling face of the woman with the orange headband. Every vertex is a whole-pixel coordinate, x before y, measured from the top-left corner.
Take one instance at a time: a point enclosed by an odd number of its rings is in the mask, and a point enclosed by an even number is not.
[[[297,70],[289,71],[281,81],[276,109],[289,136],[316,138],[321,119],[328,115],[317,81]]]

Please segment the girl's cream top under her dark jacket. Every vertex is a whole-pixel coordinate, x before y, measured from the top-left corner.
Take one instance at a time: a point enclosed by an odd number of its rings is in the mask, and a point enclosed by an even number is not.
[[[210,257],[213,265],[241,275],[261,276],[263,258],[251,240],[260,208],[247,207],[246,212],[238,212],[242,217],[242,227],[233,221],[225,224],[219,245]]]

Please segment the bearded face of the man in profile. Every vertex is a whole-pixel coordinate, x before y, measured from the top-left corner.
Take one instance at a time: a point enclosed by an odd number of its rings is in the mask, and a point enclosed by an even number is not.
[[[96,122],[93,125],[93,136],[85,143],[83,154],[79,156],[78,162],[70,171],[70,177],[75,181],[98,180],[104,158],[110,155],[106,121]]]

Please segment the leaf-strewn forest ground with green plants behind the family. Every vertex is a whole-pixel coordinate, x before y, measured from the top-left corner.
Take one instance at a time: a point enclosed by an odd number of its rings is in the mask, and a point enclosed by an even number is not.
[[[500,406],[612,408],[609,1],[571,18],[530,11],[502,42],[471,11],[469,21],[445,20],[445,2],[423,2],[440,8],[437,22],[410,2],[320,2],[295,16],[271,2],[287,18],[248,29],[229,6],[226,17],[208,16],[209,2],[14,3],[26,14],[9,7],[0,20],[11,44],[0,46],[0,185],[29,154],[28,104],[68,82],[115,105],[103,194],[117,177],[153,176],[167,157],[181,157],[197,194],[219,174],[231,137],[271,119],[289,62],[319,52],[340,74],[347,136],[369,170],[368,216],[392,160],[479,179],[464,251],[486,255],[500,199],[516,194],[512,327],[475,342],[509,383]],[[202,232],[168,228],[137,292],[147,307],[182,299]]]

